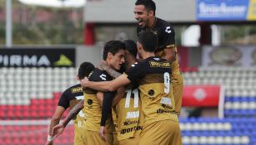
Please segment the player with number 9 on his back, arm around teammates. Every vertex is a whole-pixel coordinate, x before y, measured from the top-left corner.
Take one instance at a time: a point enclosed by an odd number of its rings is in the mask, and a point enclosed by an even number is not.
[[[143,59],[125,74],[105,82],[81,80],[83,87],[114,91],[129,83],[138,84],[143,111],[143,130],[139,144],[181,145],[178,115],[170,83],[170,63],[155,56],[158,36],[153,31],[138,35],[138,55]]]

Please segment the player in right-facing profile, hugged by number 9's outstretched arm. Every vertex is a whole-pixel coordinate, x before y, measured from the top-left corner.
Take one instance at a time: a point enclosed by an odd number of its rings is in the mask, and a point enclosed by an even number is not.
[[[121,65],[124,63],[124,44],[121,41],[108,41],[104,46],[103,60],[106,60],[108,65],[114,70],[120,70]],[[89,80],[93,81],[107,81],[112,80],[112,77],[104,70],[95,69],[93,73],[88,76]],[[108,95],[114,95],[112,92],[104,93],[96,91],[94,89],[84,89],[84,103],[76,105],[63,120],[63,123],[58,124],[53,128],[53,136],[59,135],[63,132],[70,119],[78,114],[84,106],[87,120],[83,125],[85,130],[85,137],[83,138],[83,144],[88,145],[110,145],[113,142],[113,131],[114,127],[111,125],[111,119],[107,120],[106,123],[106,138],[103,140],[99,135],[100,121],[101,121],[101,104],[104,98]],[[110,97],[113,98],[113,97]],[[81,101],[80,101],[81,102]],[[113,123],[113,122],[112,122]]]

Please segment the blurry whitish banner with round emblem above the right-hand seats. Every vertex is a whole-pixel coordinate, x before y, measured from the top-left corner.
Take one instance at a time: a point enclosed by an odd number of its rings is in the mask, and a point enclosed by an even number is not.
[[[203,66],[256,66],[256,46],[203,46]]]

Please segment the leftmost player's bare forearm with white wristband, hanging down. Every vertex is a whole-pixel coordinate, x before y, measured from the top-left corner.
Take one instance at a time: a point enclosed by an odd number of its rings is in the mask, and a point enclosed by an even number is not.
[[[48,141],[46,145],[53,144],[53,136],[51,135],[53,131],[53,127],[59,123],[59,120],[63,116],[64,112],[65,112],[65,109],[63,108],[63,106],[57,106],[57,108],[55,109],[55,112],[51,119],[51,123],[48,128]]]

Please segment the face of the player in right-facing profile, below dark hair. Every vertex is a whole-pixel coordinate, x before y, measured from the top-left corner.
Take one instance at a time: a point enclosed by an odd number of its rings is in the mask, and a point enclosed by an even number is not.
[[[125,51],[120,49],[118,53],[113,55],[111,52],[108,52],[108,65],[114,70],[120,70],[121,65],[124,63]]]

